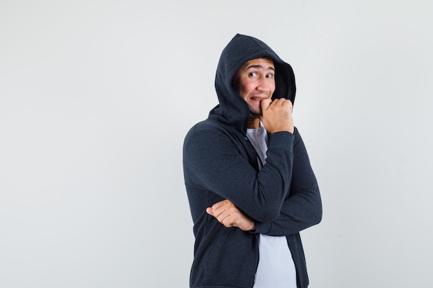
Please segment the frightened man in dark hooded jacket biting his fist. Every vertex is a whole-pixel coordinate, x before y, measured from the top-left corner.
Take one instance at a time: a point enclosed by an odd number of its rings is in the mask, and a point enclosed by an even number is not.
[[[196,238],[190,287],[307,287],[299,232],[320,222],[322,202],[293,125],[293,70],[238,34],[215,88],[219,105],[183,147]]]

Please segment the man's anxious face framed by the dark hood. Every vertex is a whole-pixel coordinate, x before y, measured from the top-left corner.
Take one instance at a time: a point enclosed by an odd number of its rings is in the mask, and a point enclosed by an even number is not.
[[[261,115],[260,102],[275,91],[275,66],[272,59],[252,59],[234,77],[234,89],[250,107],[251,115]]]

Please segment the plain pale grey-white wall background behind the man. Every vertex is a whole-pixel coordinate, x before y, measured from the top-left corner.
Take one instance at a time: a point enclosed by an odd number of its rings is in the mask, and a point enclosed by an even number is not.
[[[431,1],[0,1],[0,287],[188,287],[187,130],[236,33],[295,70],[311,288],[428,287]]]

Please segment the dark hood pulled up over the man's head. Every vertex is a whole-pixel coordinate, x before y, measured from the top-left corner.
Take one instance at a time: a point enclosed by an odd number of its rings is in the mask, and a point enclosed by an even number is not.
[[[292,67],[263,41],[237,34],[223,49],[216,68],[215,89],[219,105],[210,111],[210,119],[246,132],[250,110],[245,100],[232,87],[232,81],[243,64],[260,57],[270,57],[274,61],[275,92],[272,98],[284,97],[292,103],[295,101],[296,86]]]

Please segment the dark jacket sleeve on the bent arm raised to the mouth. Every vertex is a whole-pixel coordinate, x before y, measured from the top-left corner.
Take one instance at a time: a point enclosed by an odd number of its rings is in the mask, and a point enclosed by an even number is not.
[[[218,126],[192,128],[183,146],[187,189],[203,191],[201,195],[206,191],[216,193],[256,221],[274,220],[282,209],[291,182],[294,136],[288,132],[274,133],[267,163],[260,171],[246,157],[245,149],[252,145],[239,143],[239,140]],[[243,138],[241,141],[248,142]]]

